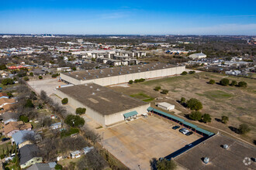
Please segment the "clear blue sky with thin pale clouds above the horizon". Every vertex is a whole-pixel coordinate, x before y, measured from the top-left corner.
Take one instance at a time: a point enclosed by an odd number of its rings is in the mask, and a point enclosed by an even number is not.
[[[0,33],[256,35],[256,0],[0,0]]]

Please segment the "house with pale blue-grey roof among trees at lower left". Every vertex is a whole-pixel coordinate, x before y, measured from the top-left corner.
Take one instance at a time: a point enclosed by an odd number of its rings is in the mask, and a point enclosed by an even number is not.
[[[19,148],[22,148],[25,145],[31,145],[31,141],[27,140],[26,135],[35,136],[34,131],[17,131],[15,134],[12,134],[12,143],[16,143]]]

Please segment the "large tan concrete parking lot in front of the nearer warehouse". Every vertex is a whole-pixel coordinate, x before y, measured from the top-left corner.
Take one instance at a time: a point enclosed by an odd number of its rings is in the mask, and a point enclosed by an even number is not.
[[[171,121],[150,116],[99,129],[103,146],[130,169],[150,169],[151,158],[161,158],[200,138],[172,130]],[[140,168],[139,168],[140,165]]]

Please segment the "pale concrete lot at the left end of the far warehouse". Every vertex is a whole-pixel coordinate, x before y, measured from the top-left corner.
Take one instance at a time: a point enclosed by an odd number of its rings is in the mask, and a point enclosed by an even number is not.
[[[29,81],[29,86],[36,90],[36,93],[40,93],[44,90],[48,96],[54,93],[54,89],[58,86],[64,85],[66,83],[58,82],[58,79],[43,79],[43,80],[33,80]]]

